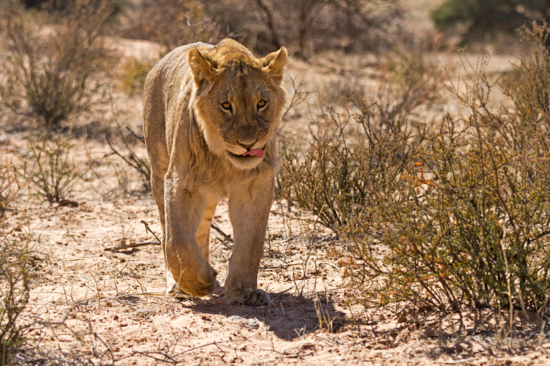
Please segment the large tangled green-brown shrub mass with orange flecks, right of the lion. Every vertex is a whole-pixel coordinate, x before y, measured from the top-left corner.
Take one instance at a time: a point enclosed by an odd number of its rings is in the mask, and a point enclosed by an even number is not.
[[[548,32],[547,25],[525,31],[533,51],[522,58],[518,77],[503,83],[516,108],[490,107],[498,85],[484,76],[487,54],[476,62],[461,55],[459,82],[445,85],[469,111],[463,119],[448,115],[439,126],[411,133],[406,109],[397,115],[362,109],[353,128],[349,119],[346,125],[325,113],[309,148],[283,154],[288,198],[347,240],[343,255],[355,301],[547,317]],[[393,124],[384,116],[395,116]],[[383,128],[368,128],[365,117]],[[373,169],[372,161],[385,170]]]

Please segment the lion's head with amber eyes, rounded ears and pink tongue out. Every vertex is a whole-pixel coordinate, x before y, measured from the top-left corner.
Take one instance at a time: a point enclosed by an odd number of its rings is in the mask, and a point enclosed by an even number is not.
[[[197,121],[214,154],[237,168],[254,168],[275,137],[285,104],[286,50],[262,59],[243,47],[229,53],[214,50],[203,56],[192,49],[189,54]]]

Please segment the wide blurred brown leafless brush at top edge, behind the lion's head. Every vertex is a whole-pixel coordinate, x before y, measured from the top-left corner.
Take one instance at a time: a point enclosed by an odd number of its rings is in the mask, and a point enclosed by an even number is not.
[[[394,0],[203,2],[208,14],[256,52],[285,45],[304,58],[327,49],[376,51],[399,30],[402,16]]]

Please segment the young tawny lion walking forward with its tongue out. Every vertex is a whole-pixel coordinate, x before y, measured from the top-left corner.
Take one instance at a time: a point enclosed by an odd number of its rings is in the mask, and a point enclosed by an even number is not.
[[[148,73],[143,129],[163,229],[167,290],[203,297],[216,286],[210,225],[228,197],[234,247],[223,297],[268,304],[257,288],[278,169],[287,50],[255,58],[240,43],[174,49]]]

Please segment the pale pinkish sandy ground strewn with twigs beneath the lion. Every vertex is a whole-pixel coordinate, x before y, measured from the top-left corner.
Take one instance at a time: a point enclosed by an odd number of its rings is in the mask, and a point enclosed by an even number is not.
[[[25,138],[5,135],[14,159]],[[221,287],[203,299],[164,295],[164,264],[154,244],[157,207],[140,179],[109,147],[73,141],[75,161],[92,169],[68,205],[23,194],[6,213],[10,235],[32,233],[30,303],[25,335],[51,359],[90,365],[549,365],[550,343],[500,339],[492,312],[418,319],[391,310],[348,306],[342,262],[331,233],[296,219],[286,203],[272,206],[259,286],[269,306],[228,306]],[[144,150],[135,146],[140,154]],[[227,204],[214,222],[231,236]],[[232,243],[211,233],[219,281]],[[527,319],[526,329],[536,323]],[[536,332],[536,330],[533,330]],[[525,333],[525,332],[524,332]],[[37,363],[42,356],[21,353]]]

